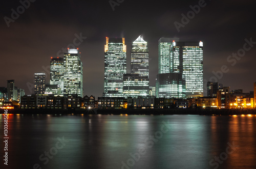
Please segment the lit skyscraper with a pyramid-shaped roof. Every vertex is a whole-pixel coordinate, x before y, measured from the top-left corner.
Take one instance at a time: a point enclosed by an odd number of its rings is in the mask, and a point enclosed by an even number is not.
[[[132,45],[131,73],[148,77],[148,48],[147,42],[139,36]]]

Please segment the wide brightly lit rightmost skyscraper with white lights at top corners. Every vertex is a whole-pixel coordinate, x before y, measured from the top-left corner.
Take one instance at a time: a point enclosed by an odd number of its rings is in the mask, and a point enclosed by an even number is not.
[[[170,65],[186,81],[187,98],[203,96],[203,42],[173,42]]]

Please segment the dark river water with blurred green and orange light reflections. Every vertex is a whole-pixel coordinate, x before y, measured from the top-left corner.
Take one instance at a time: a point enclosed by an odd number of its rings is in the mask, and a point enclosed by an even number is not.
[[[9,115],[0,168],[256,168],[256,115]]]

